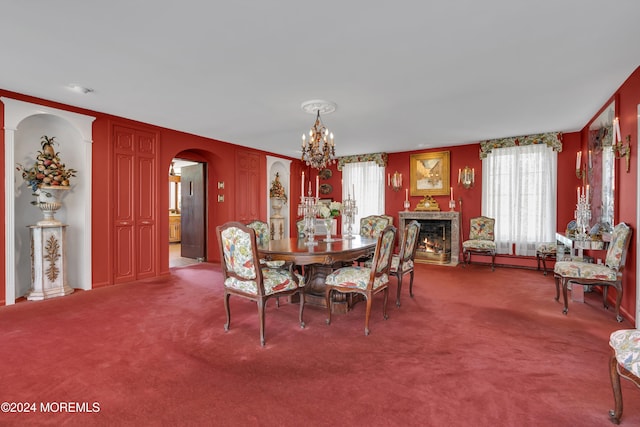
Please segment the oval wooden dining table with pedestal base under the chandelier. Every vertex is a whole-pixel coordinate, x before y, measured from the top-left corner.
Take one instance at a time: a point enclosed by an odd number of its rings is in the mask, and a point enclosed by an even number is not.
[[[330,242],[324,236],[316,236],[314,245],[306,239],[291,237],[270,240],[268,245],[258,246],[258,255],[266,260],[283,260],[300,266],[305,277],[305,303],[325,307],[325,283],[329,273],[355,260],[372,255],[377,239],[354,236],[352,239],[335,237]],[[353,304],[345,295],[334,295],[331,311],[346,313]]]

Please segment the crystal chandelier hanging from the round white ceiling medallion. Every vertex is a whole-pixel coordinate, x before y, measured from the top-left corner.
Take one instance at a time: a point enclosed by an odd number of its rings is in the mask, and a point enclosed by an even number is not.
[[[320,113],[332,113],[336,105],[328,101],[313,100],[302,104],[302,109],[307,113],[316,113],[316,121],[307,135],[302,135],[302,157],[300,160],[307,166],[315,169],[323,169],[327,165],[335,163],[336,150],[333,142],[333,133],[322,123]]]

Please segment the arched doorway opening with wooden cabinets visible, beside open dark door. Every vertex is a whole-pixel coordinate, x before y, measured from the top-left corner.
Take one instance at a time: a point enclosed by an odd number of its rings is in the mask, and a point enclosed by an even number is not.
[[[202,165],[191,160],[174,158],[169,167],[169,268],[184,267],[202,261],[200,257],[183,256],[183,168]],[[204,235],[204,229],[201,230]]]

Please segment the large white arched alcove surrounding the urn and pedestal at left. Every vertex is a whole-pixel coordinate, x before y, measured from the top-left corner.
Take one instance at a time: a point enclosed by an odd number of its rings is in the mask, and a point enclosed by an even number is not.
[[[30,166],[41,149],[43,135],[55,137],[55,150],[68,168],[76,169],[72,189],[56,218],[67,224],[67,278],[69,286],[91,289],[91,124],[94,117],[37,104],[0,98],[5,106],[6,304],[15,303],[31,287],[30,236],[27,226],[42,218],[31,204],[31,190],[15,165]]]

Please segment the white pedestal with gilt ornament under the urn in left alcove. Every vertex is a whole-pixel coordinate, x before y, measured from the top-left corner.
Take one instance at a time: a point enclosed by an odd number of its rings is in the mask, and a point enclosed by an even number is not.
[[[67,285],[66,225],[30,225],[31,291],[28,300],[69,295]]]

